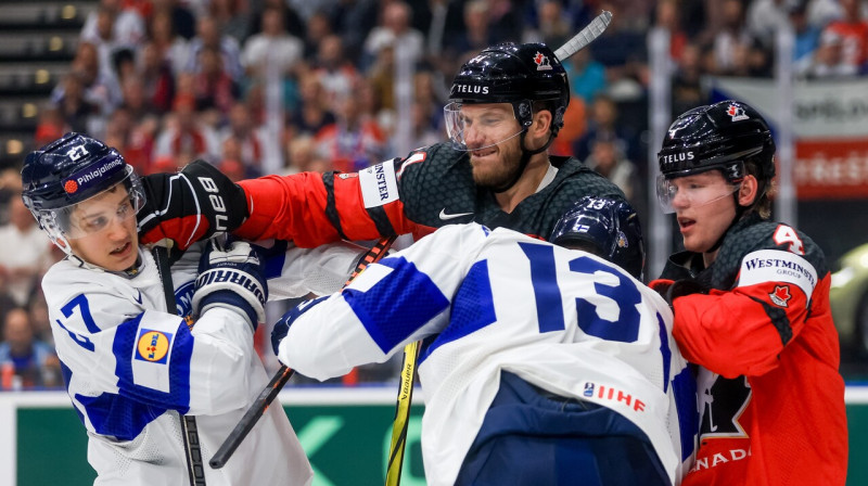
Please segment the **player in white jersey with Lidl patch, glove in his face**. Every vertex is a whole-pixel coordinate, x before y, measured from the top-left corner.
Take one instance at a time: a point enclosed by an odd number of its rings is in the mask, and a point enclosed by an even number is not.
[[[191,170],[206,177],[208,169]],[[27,156],[22,180],[25,204],[67,255],[42,287],[64,383],[89,436],[95,483],[189,484],[179,414],[196,417],[207,464],[268,382],[253,347],[268,293],[264,264],[242,242],[225,251],[200,247],[206,254],[201,264],[188,252],[171,269],[184,319],[166,308],[154,259],[138,244],[135,216],[144,194],[120,154],[67,133]],[[297,267],[291,276],[320,263],[334,268],[342,274],[332,279],[331,292],[359,256],[350,250],[328,256],[299,251],[312,261],[285,265]],[[301,295],[324,290],[283,283]],[[233,461],[220,470],[204,466],[208,485],[310,484],[311,468],[283,408],[269,407],[261,422]]]

